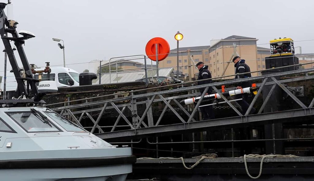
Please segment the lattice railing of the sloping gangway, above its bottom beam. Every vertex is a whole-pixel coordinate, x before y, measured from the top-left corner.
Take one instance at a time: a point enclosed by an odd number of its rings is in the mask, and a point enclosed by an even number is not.
[[[300,64],[300,65],[304,65],[304,64]],[[298,65],[294,65],[294,66],[298,66]],[[292,67],[292,66],[285,66],[285,67]],[[281,68],[281,67],[278,67],[278,68]],[[274,69],[269,69],[269,70],[274,70]],[[260,71],[254,71],[254,72],[260,72]],[[276,86],[279,86],[285,93],[287,93],[298,105],[300,105],[302,109],[307,109],[307,108],[311,108],[314,105],[314,99],[312,99],[309,106],[306,106],[293,93],[291,93],[283,85],[283,83],[290,83],[290,82],[301,81],[301,80],[310,80],[310,79],[313,79],[314,76],[296,77],[296,78],[284,79],[284,80],[276,80],[275,77],[288,76],[291,74],[300,74],[300,73],[305,73],[307,75],[308,72],[314,72],[314,68],[299,69],[299,70],[290,71],[290,72],[279,72],[279,73],[274,73],[274,74],[262,75],[258,77],[249,77],[249,78],[245,78],[245,80],[244,79],[227,80],[223,82],[197,85],[197,86],[192,86],[192,87],[184,87],[183,85],[187,83],[181,83],[181,84],[175,84],[175,85],[181,85],[181,88],[164,90],[164,91],[159,91],[159,92],[144,93],[144,94],[139,94],[139,95],[134,95],[134,92],[136,91],[130,91],[129,92],[130,96],[127,96],[127,97],[105,99],[105,100],[99,100],[99,101],[94,101],[94,102],[85,102],[83,104],[74,104],[74,105],[52,108],[52,110],[61,111],[62,115],[69,115],[79,125],[80,125],[81,120],[83,119],[84,114],[86,114],[87,117],[94,124],[94,126],[91,129],[91,132],[93,133],[97,128],[99,133],[105,133],[105,131],[102,129],[104,127],[101,127],[98,124],[104,112],[106,112],[106,110],[108,109],[113,109],[118,113],[118,117],[113,125],[108,126],[108,127],[111,127],[110,132],[114,132],[118,126],[120,126],[120,130],[121,130],[122,128],[122,125],[121,125],[122,122],[120,122],[121,119],[124,121],[123,126],[126,126],[126,127],[123,127],[125,130],[135,130],[136,132],[137,129],[140,129],[140,128],[149,128],[149,127],[158,127],[160,125],[167,125],[167,123],[163,122],[163,117],[165,115],[166,110],[168,109],[170,109],[171,112],[176,115],[178,123],[186,124],[186,123],[196,122],[194,116],[196,115],[198,107],[200,106],[200,103],[204,98],[206,90],[208,90],[209,87],[213,88],[214,91],[216,91],[216,93],[218,93],[221,96],[223,101],[225,101],[225,103],[228,104],[238,116],[245,117],[250,113],[257,99],[260,97],[263,87],[269,86],[269,85],[271,85],[272,88],[268,93],[266,93],[268,94],[268,96],[263,101],[263,104],[259,108],[259,111],[257,114],[262,113],[264,107],[266,106]],[[237,76],[238,75],[240,74],[237,74]],[[227,75],[224,77],[230,77],[230,76],[235,76],[235,75]],[[219,78],[219,77],[216,77],[216,78]],[[211,78],[211,79],[215,79],[215,78]],[[226,86],[230,84],[240,83],[243,81],[260,81],[260,80],[262,80],[262,83],[257,84],[257,86],[259,86],[260,88],[257,91],[257,94],[255,95],[255,97],[253,98],[248,110],[246,111],[246,113],[243,113],[243,114],[233,104],[231,104],[231,103],[236,104],[236,101],[231,102],[230,100],[225,98],[225,96],[222,95],[220,91],[216,88],[217,86],[218,87],[222,85]],[[193,82],[197,82],[197,81],[192,81],[190,83],[193,83]],[[166,87],[166,86],[163,86],[163,87]],[[192,112],[191,111],[188,112],[185,106],[181,105],[179,103],[180,101],[178,100],[191,98],[193,96],[199,96],[199,93],[191,93],[191,92],[192,90],[196,90],[200,88],[205,88],[205,91],[201,95],[201,98],[198,101],[198,103],[192,109]],[[152,89],[153,88],[148,88],[148,89],[143,89],[143,90],[147,91],[147,90],[152,90]],[[228,88],[226,89],[226,91],[231,90],[231,89],[234,89],[234,88]],[[184,93],[184,94],[177,95],[178,93]],[[176,96],[173,96],[173,94],[176,94]],[[111,95],[106,95],[106,96],[112,96],[112,95],[116,95],[116,94],[111,94]],[[106,96],[103,96],[103,97],[106,97]],[[100,97],[101,96],[99,96],[98,98]],[[85,99],[79,99],[79,100],[85,100]],[[121,101],[124,101],[126,103],[121,103]],[[74,103],[75,101],[69,101],[69,102]],[[162,110],[158,119],[154,119],[153,114],[152,114],[152,108],[154,107],[153,103],[157,103],[157,102],[161,102],[162,104],[165,105],[165,107]],[[171,103],[173,104],[171,105]],[[60,104],[60,103],[56,103],[56,104]],[[56,105],[56,104],[49,104],[46,106],[49,107],[51,105]],[[146,106],[146,109],[143,111],[141,115],[138,115],[137,107],[143,104]],[[80,108],[81,110],[78,110],[78,108]],[[132,122],[128,120],[126,114],[124,114],[126,109],[129,109],[131,111]],[[182,117],[181,116],[182,114],[180,115],[177,112],[177,110],[182,111],[183,114],[186,115],[185,116],[186,118],[184,118],[184,116]],[[98,115],[96,120],[94,120],[93,116],[89,114],[90,112],[99,112],[99,111],[100,111],[100,114]],[[76,117],[74,115],[78,115],[78,116]]]

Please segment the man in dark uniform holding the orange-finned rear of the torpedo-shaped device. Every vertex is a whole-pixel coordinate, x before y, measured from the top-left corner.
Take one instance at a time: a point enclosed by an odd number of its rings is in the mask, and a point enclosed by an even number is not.
[[[237,73],[251,72],[250,67],[245,63],[245,60],[241,59],[240,56],[235,56],[232,59],[232,61],[236,67],[236,74]],[[247,78],[247,77],[251,77],[251,73],[241,74],[241,75],[239,75],[239,77],[236,75],[235,79]],[[252,85],[251,81],[239,82],[239,83],[237,83],[237,89],[251,87],[251,85]],[[248,95],[249,95],[248,93],[236,95],[237,99],[242,98],[242,100],[239,100],[237,102],[240,104],[240,106],[242,108],[242,114],[243,115],[246,113],[247,109],[250,106],[250,104],[247,103]],[[252,108],[251,113],[254,113],[254,112],[255,112],[255,109]]]

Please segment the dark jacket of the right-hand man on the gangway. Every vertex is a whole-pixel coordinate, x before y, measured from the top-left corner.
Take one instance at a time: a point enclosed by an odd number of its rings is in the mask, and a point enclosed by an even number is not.
[[[235,64],[235,67],[236,67],[236,74],[237,73],[251,72],[250,67],[245,63],[245,60],[243,60],[243,59],[238,61],[238,63]],[[247,77],[251,77],[251,73],[239,75],[239,78],[247,78]],[[238,76],[236,76],[235,79],[238,79]],[[237,83],[237,86],[240,86],[242,88],[246,88],[246,87],[251,87],[252,83],[251,83],[251,81],[240,82],[240,83]]]

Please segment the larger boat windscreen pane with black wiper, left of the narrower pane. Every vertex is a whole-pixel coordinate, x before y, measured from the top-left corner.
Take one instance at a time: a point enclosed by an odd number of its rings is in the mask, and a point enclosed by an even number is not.
[[[27,132],[61,131],[41,112],[33,109],[30,112],[7,112]]]

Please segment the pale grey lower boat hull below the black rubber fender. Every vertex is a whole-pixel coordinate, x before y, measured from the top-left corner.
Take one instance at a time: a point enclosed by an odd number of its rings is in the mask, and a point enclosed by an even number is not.
[[[88,168],[0,169],[1,180],[10,181],[124,181],[132,164]]]

